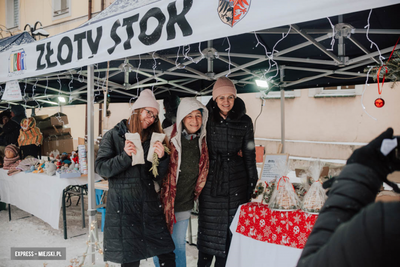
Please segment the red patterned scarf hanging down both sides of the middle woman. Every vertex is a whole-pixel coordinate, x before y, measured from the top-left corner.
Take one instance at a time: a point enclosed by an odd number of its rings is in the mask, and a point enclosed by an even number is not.
[[[176,123],[173,126],[171,132],[171,139],[176,136]],[[171,140],[170,139],[170,140]],[[173,224],[175,218],[174,204],[176,197],[176,171],[178,168],[178,151],[176,150],[173,143],[170,141],[171,154],[169,160],[168,172],[163,179],[160,200],[163,205],[165,221],[167,222],[167,227],[169,232],[172,234]],[[209,169],[209,159],[208,159],[208,148],[206,144],[206,137],[202,140],[202,153],[200,155],[200,162],[198,164],[199,174],[196,181],[196,186],[194,187],[194,200],[197,200],[198,196],[203,190],[206,184],[208,169]]]

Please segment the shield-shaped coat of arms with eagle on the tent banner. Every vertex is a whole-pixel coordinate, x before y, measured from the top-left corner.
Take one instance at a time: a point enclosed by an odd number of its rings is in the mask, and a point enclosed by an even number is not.
[[[251,0],[219,0],[218,14],[222,22],[233,27],[249,11]]]

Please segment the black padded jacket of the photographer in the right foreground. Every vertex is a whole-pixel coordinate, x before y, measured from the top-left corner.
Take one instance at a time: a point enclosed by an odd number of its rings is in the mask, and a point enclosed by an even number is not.
[[[398,266],[400,203],[373,203],[380,186],[371,168],[347,165],[328,192],[297,267]]]

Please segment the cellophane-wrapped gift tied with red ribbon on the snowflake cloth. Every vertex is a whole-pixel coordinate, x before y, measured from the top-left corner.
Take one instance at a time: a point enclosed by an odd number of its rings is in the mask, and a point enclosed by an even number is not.
[[[272,170],[281,178],[277,179],[276,188],[273,190],[269,201],[269,208],[276,211],[294,211],[298,209],[300,200],[287,177],[289,173],[288,163],[283,160],[277,160]]]

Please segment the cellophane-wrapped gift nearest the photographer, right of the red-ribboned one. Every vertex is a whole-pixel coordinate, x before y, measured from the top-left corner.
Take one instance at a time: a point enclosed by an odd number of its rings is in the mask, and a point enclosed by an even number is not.
[[[324,206],[325,200],[328,198],[326,190],[322,187],[322,182],[319,180],[324,164],[324,162],[319,160],[314,161],[307,170],[308,176],[311,177],[314,182],[304,196],[301,206],[302,210],[306,213],[318,214]]]

